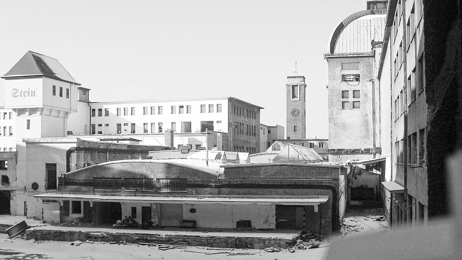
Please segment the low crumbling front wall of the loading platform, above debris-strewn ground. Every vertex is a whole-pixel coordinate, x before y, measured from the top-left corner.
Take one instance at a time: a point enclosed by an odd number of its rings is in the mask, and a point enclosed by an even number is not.
[[[292,239],[240,236],[210,236],[210,235],[160,235],[142,233],[113,233],[90,231],[63,230],[26,230],[27,239],[52,241],[127,241],[128,243],[158,243],[176,244],[183,246],[207,246],[217,248],[287,248],[286,244],[295,243],[299,236]]]

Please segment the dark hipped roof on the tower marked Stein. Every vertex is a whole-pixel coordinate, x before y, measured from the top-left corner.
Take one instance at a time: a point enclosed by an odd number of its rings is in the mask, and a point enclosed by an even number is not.
[[[80,85],[77,80],[67,72],[61,63],[55,58],[45,56],[33,51],[28,51],[26,54],[10,69],[2,78],[12,77],[17,75],[37,75],[72,82]]]

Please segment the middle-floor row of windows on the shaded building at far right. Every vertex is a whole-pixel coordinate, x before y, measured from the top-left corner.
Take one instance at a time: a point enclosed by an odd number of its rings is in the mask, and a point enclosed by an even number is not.
[[[425,140],[425,128],[422,128],[407,136],[407,140],[401,139],[395,142],[395,163],[425,164]],[[407,156],[407,161],[405,161],[405,156]]]

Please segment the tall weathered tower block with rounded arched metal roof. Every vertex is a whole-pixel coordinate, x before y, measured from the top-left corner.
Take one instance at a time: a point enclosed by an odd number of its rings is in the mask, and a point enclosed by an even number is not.
[[[328,42],[329,161],[371,159],[380,152],[374,136],[374,55],[383,40],[386,0],[343,19]]]

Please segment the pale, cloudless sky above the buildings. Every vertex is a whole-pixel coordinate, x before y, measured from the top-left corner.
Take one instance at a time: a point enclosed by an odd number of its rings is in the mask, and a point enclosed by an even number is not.
[[[306,77],[306,137],[328,138],[328,40],[366,0],[2,1],[0,74],[58,59],[90,101],[235,97],[286,127],[286,76]],[[0,79],[0,89],[5,80]]]

